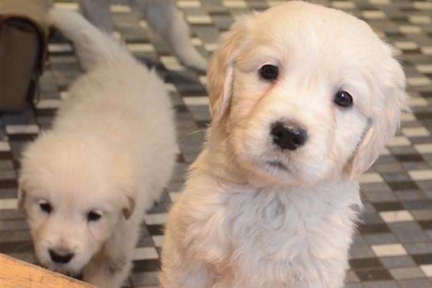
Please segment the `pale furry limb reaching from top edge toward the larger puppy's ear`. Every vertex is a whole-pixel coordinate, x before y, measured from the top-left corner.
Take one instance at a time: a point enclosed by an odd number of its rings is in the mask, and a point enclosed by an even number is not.
[[[143,13],[152,29],[173,49],[187,67],[205,72],[207,61],[195,50],[189,38],[189,26],[173,0],[129,0]]]

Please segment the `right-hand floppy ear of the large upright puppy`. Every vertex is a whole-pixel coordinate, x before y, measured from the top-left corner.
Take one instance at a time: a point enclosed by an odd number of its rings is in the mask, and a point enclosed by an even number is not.
[[[351,179],[357,179],[372,166],[399,128],[401,112],[410,111],[405,92],[406,78],[401,65],[391,59],[383,73],[387,74],[383,83],[374,83],[374,86],[379,87],[377,95],[374,95],[374,102],[378,102],[379,106],[371,107],[369,125],[349,163]]]

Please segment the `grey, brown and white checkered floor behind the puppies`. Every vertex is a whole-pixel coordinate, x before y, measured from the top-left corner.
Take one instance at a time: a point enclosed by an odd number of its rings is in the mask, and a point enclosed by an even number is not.
[[[193,44],[205,56],[221,32],[250,10],[280,1],[178,0],[193,32]],[[432,2],[409,0],[326,1],[365,19],[397,49],[405,66],[413,113],[403,115],[401,131],[361,180],[363,222],[351,248],[350,288],[432,288]],[[56,6],[75,9],[73,1]],[[161,204],[149,211],[136,248],[131,280],[135,287],[156,287],[161,228],[166,205],[182,189],[186,167],[197,157],[209,122],[205,75],[186,70],[146,23],[127,6],[112,7],[115,28],[129,49],[156,66],[177,110],[181,155]],[[64,40],[49,45],[50,63],[40,80],[35,112],[0,117],[0,252],[33,262],[33,247],[17,205],[17,170],[22,147],[49,127],[64,91],[81,73]]]

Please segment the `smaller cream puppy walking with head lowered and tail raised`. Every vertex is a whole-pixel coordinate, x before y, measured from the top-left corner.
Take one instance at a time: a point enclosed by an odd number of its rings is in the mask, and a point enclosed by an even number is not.
[[[19,201],[42,266],[98,287],[127,278],[144,211],[177,145],[163,81],[81,15],[53,10],[86,70],[54,127],[24,152]]]

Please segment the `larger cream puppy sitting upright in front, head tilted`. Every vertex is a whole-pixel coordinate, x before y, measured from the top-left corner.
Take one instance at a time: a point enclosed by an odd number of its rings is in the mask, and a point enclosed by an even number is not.
[[[240,19],[209,67],[211,127],[172,207],[166,288],[338,288],[358,177],[408,109],[389,45],[289,1]]]

